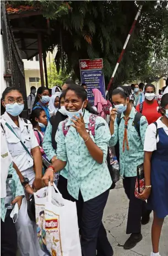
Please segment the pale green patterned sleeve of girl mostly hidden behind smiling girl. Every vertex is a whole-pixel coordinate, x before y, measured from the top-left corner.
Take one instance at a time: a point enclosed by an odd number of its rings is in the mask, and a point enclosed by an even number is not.
[[[56,156],[56,150],[52,147],[52,125],[50,121],[48,122],[47,129],[45,131],[44,140],[42,143],[42,148],[47,155],[47,158],[51,160]]]

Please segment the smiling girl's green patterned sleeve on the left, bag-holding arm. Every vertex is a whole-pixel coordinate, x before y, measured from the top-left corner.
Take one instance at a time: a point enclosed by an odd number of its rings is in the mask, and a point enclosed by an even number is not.
[[[62,122],[58,125],[58,130],[56,132],[56,142],[57,142],[57,158],[67,162],[67,150],[65,136],[62,131]]]

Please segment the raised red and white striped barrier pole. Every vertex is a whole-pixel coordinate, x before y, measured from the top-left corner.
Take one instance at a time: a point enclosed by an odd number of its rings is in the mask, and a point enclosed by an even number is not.
[[[136,25],[136,22],[137,22],[137,19],[138,19],[138,16],[139,16],[139,14],[140,14],[141,9],[142,9],[142,6],[139,6],[139,9],[138,9],[136,18],[134,19],[134,22],[133,22],[133,24],[132,24],[132,26],[131,26],[131,29],[130,29],[129,34],[128,34],[128,36],[127,36],[127,39],[126,39],[126,41],[125,41],[125,43],[124,43],[123,49],[122,49],[122,51],[121,51],[120,57],[119,57],[118,60],[117,60],[117,64],[116,64],[115,69],[114,69],[114,71],[113,71],[113,73],[112,73],[112,77],[111,77],[110,82],[109,82],[109,84],[108,84],[108,86],[107,86],[106,95],[107,95],[107,93],[109,92],[109,89],[110,89],[110,86],[111,86],[111,84],[112,84],[113,78],[115,77],[115,73],[116,73],[117,68],[118,68],[118,66],[119,66],[119,64],[120,64],[120,61],[122,60],[122,56],[123,56],[124,51],[125,51],[125,49],[126,49],[126,46],[127,46],[127,44],[128,44],[129,38],[130,38],[130,36],[131,36],[131,34],[132,34],[132,31],[133,31],[133,29],[134,29],[134,27],[135,27],[135,25]]]

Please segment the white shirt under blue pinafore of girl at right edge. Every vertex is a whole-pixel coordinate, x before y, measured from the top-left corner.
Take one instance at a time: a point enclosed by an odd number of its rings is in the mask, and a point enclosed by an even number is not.
[[[163,128],[168,136],[168,127],[161,121],[162,116],[156,121],[158,129]],[[144,151],[153,152],[157,149],[156,144],[159,142],[159,134],[156,138],[156,125],[150,124],[147,128],[144,141]]]

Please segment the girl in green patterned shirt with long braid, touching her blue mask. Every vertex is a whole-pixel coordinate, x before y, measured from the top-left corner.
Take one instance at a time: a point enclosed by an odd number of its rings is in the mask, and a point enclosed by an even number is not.
[[[137,166],[143,163],[144,139],[148,122],[145,116],[138,113],[129,102],[131,91],[126,86],[120,86],[112,92],[109,145],[115,146],[119,142],[120,174],[123,177],[124,190],[129,199],[127,234],[131,234],[124,249],[131,249],[142,240],[141,223],[149,222],[146,202],[134,196],[137,178]],[[136,119],[139,119],[136,124]]]

